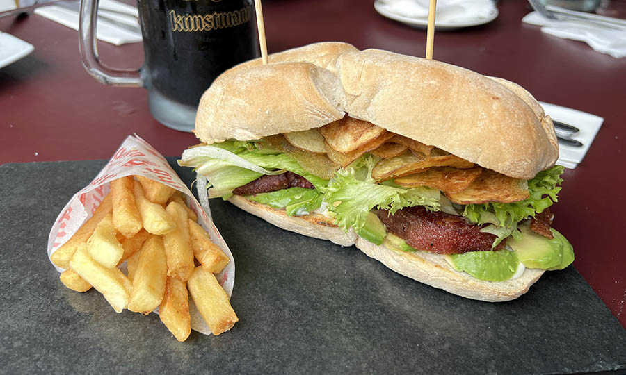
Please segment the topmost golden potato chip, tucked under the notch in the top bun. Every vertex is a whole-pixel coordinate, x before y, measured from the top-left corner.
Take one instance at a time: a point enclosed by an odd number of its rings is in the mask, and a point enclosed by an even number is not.
[[[344,116],[343,119],[322,126],[319,132],[330,148],[339,153],[349,153],[380,137],[385,129],[371,122]]]

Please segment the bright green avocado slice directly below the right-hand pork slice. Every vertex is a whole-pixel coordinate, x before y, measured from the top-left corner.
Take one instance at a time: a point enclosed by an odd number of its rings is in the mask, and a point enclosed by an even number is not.
[[[486,281],[505,281],[511,278],[520,267],[515,251],[470,251],[463,254],[450,254],[447,260],[457,271]]]

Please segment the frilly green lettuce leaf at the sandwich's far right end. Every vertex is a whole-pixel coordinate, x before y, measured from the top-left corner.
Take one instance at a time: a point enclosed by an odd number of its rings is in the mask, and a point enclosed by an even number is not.
[[[550,169],[539,172],[528,181],[530,197],[513,203],[483,203],[468,204],[463,209],[463,216],[476,224],[493,224],[483,228],[483,231],[498,236],[494,246],[501,240],[513,235],[520,238],[517,223],[534,217],[557,201],[557,194],[561,191],[559,185],[563,181],[561,174],[565,167],[555,165]]]

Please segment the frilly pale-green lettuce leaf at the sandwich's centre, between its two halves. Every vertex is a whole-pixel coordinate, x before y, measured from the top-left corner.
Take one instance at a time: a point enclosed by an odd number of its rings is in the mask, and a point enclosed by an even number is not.
[[[344,231],[348,228],[358,230],[364,226],[374,207],[388,209],[391,213],[409,206],[438,210],[439,190],[376,184],[371,178],[375,158],[362,156],[348,167],[339,169],[330,181],[323,199],[328,203],[328,210],[336,215],[335,225]]]

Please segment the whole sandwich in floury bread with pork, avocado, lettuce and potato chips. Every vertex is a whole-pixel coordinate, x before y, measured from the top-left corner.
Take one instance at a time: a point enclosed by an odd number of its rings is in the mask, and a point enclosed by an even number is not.
[[[339,42],[268,60],[200,99],[202,143],[179,165],[201,198],[481,301],[515,299],[574,260],[549,210],[554,126],[519,85]]]

